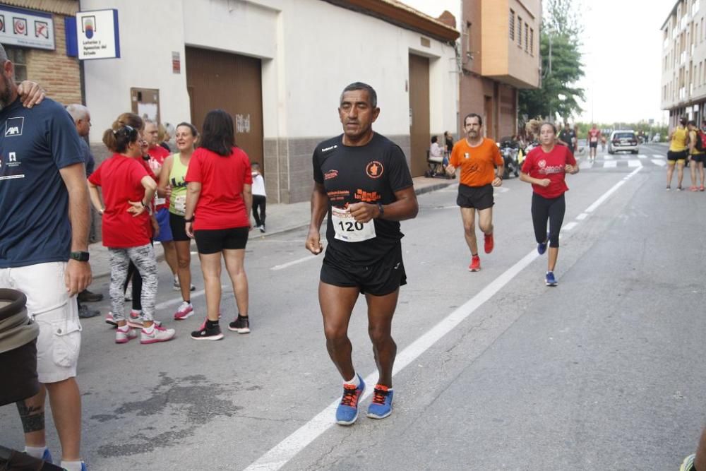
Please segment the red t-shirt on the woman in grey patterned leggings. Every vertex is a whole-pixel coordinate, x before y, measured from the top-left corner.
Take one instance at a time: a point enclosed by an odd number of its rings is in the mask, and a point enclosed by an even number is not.
[[[145,187],[142,179],[148,175],[137,159],[114,154],[95,169],[88,181],[102,187],[105,211],[103,213],[103,245],[127,249],[150,243],[152,235],[150,215],[128,213],[128,201],[143,201]]]

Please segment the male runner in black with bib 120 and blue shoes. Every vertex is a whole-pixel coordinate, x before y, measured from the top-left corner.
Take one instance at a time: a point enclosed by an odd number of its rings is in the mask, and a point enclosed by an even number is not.
[[[342,136],[323,141],[313,153],[314,188],[306,249],[320,254],[320,229],[328,213],[328,247],[321,267],[318,299],[326,347],[341,374],[343,395],[336,422],[353,424],[365,390],[356,373],[348,323],[360,293],[368,304],[368,331],[378,365],[368,417],[392,412],[393,364],[397,345],[390,335],[400,285],[407,283],[402,263],[400,222],[417,215],[419,205],[402,149],[372,124],[380,109],[375,90],[352,83],[341,94]]]

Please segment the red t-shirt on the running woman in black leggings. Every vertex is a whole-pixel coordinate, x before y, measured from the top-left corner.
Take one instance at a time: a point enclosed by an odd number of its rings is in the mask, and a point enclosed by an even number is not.
[[[542,146],[530,150],[522,162],[522,173],[532,178],[550,180],[549,186],[532,184],[534,193],[544,198],[557,198],[568,191],[566,186],[566,164],[576,165],[576,159],[566,145],[555,145],[551,152],[544,152]]]

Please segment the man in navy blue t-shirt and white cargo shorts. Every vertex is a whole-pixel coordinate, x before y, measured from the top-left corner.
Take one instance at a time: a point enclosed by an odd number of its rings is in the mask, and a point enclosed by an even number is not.
[[[27,296],[40,327],[40,393],[20,401],[25,450],[49,458],[44,400],[52,401],[65,469],[80,460],[80,330],[76,294],[91,281],[88,186],[76,127],[64,107],[44,100],[22,106],[14,66],[0,45],[0,288]],[[1,378],[0,381],[14,381]]]

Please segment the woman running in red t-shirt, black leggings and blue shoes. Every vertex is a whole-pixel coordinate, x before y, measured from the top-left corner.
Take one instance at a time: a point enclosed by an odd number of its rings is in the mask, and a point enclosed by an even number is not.
[[[543,123],[539,128],[539,147],[527,154],[522,162],[520,180],[532,184],[532,224],[537,239],[539,255],[546,251],[549,242],[549,261],[544,282],[556,286],[554,268],[559,254],[559,229],[566,212],[564,193],[566,174],[578,173],[576,160],[566,145],[557,145],[556,126]],[[549,221],[549,232],[546,232]]]

